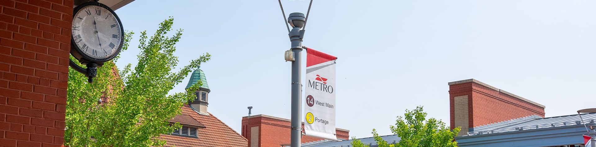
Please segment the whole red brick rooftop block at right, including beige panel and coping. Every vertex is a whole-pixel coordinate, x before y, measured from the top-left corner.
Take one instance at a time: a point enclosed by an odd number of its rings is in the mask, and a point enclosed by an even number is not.
[[[544,105],[478,80],[460,80],[448,85],[450,124],[451,129],[461,127],[458,136],[486,124],[530,115],[544,117]]]

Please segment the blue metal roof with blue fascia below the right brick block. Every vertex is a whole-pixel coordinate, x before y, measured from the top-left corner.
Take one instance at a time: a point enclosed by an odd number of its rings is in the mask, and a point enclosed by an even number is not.
[[[583,145],[583,135],[587,135],[583,124],[594,120],[596,113],[547,118],[529,116],[474,127],[468,135],[455,137],[455,140],[461,147],[579,146]]]

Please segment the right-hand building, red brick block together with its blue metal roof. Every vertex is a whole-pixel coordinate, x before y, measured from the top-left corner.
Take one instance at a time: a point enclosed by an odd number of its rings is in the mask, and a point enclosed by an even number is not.
[[[596,113],[545,118],[544,105],[475,79],[448,85],[451,128],[462,127],[458,146],[584,146],[583,125],[596,120]]]

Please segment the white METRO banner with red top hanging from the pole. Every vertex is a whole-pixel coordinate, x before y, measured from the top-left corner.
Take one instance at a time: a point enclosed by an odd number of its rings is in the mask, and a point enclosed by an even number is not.
[[[336,60],[332,55],[306,49],[306,136],[337,140]]]

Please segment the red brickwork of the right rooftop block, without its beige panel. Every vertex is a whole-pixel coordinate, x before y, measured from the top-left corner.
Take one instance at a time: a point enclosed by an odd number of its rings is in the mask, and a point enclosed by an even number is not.
[[[449,86],[451,128],[458,127],[454,125],[454,98],[462,95],[468,95],[468,127],[498,123],[529,115],[544,117],[545,114],[543,107],[504,93],[500,89],[476,82],[458,83]]]

